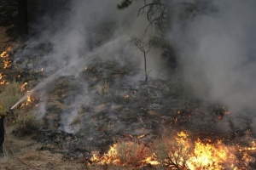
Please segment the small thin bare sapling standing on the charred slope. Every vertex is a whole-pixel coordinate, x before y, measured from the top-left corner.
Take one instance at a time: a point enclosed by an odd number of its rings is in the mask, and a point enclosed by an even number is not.
[[[148,42],[143,41],[143,37],[135,37],[132,36],[131,40],[129,41],[131,45],[136,46],[139,48],[141,52],[143,52],[143,58],[144,58],[144,71],[145,71],[145,83],[148,82],[148,74],[149,72],[147,71],[147,56],[148,52],[151,49],[151,44]]]

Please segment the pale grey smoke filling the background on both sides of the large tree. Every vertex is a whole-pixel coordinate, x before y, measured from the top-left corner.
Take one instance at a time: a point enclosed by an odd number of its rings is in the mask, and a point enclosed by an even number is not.
[[[142,36],[148,26],[145,16],[137,17],[143,1],[134,1],[124,10],[116,8],[120,0],[71,2],[65,17],[55,16],[57,30],[46,30],[40,37],[53,44],[53,51],[42,57],[42,63],[49,59],[52,63],[46,70],[81,64],[81,58],[86,65],[90,54],[114,59],[121,65],[126,59],[143,61],[143,54],[127,42],[130,36]],[[168,40],[177,49],[184,87],[203,99],[228,105],[232,111],[256,109],[256,1],[212,0],[212,3],[218,9],[216,12],[197,15],[182,27],[179,20],[172,20],[167,31]],[[150,33],[154,31],[149,29],[147,34]],[[166,73],[161,65],[165,61],[157,50],[150,52],[149,77],[160,77]]]

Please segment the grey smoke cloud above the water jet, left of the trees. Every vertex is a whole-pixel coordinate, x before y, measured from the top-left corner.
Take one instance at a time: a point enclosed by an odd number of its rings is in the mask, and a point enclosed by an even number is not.
[[[56,65],[68,65],[81,57],[86,58],[86,53],[93,48],[104,46],[105,42],[108,43],[108,48],[105,48],[108,51],[103,53],[106,55],[111,49],[116,51],[120,48],[131,48],[125,44],[128,34],[133,35],[139,31],[142,32],[142,29],[138,28],[143,27],[143,22],[142,20],[134,20],[137,18],[135,12],[137,9],[131,8],[128,12],[119,11],[116,8],[117,3],[119,3],[117,0],[74,0],[70,5],[72,8],[67,11],[66,20],[63,21],[61,17],[63,14],[55,17],[55,25],[60,24],[61,26],[57,27],[54,35],[47,35],[49,31],[42,34],[44,36],[42,39],[45,40],[45,37],[49,37],[49,41],[54,46],[53,52],[44,56],[45,61],[53,60],[55,63],[53,70],[55,70]],[[117,41],[119,43],[116,43]],[[111,42],[113,42],[113,46],[111,46]],[[48,68],[49,70],[50,68]]]

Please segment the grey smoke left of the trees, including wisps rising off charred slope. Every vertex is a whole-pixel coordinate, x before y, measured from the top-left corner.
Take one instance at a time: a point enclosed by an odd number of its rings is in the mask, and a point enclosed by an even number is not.
[[[140,63],[143,63],[141,62],[143,54],[136,47],[131,47],[128,41],[130,36],[143,35],[148,25],[148,21],[143,17],[137,17],[138,8],[143,2],[136,2],[129,10],[118,10],[117,3],[120,1],[73,0],[67,5],[65,14],[63,11],[60,14],[56,13],[55,16],[49,17],[51,21],[44,18],[41,24],[53,23],[55,26],[49,26],[48,30],[40,31],[40,37],[30,40],[28,48],[20,53],[20,55],[27,55],[37,52],[37,49],[33,48],[41,42],[50,44],[49,53],[43,51],[38,60],[38,68],[44,67],[44,71],[50,78],[49,81],[44,81],[47,86],[39,83],[37,90],[49,88],[49,90],[45,89],[46,93],[49,92],[54,88],[52,85],[49,86],[50,82],[61,76],[78,76],[81,71],[84,71],[84,67],[90,65],[96,58],[102,62],[111,59],[117,61],[119,65],[134,63],[130,66],[140,68]],[[40,26],[35,27],[40,28]],[[148,54],[148,65],[151,63],[150,57],[157,59],[155,54],[156,52],[151,56]],[[155,62],[152,63],[155,64]],[[143,69],[143,65],[141,68]],[[140,74],[130,78],[143,80]],[[81,107],[90,105],[93,95],[96,95],[95,92],[88,92],[86,82],[81,83],[84,83],[81,85],[84,89],[80,89],[79,95],[73,96],[70,100],[67,99],[69,108],[60,113],[59,130],[67,133],[77,133],[83,126],[73,126],[72,123],[79,116]],[[45,97],[40,103],[38,118],[47,117],[49,114],[47,113],[49,105],[46,104],[48,101],[49,99]],[[48,122],[49,126],[54,127],[53,122],[50,120]],[[86,120],[86,123],[90,124],[89,122],[90,120]]]

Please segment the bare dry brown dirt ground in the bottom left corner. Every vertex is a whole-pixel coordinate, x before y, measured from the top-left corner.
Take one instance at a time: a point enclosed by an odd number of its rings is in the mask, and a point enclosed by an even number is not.
[[[65,161],[62,154],[42,150],[43,145],[31,137],[15,137],[12,134],[13,129],[13,126],[6,126],[3,145],[5,156],[0,158],[0,169],[85,169],[82,160]]]

